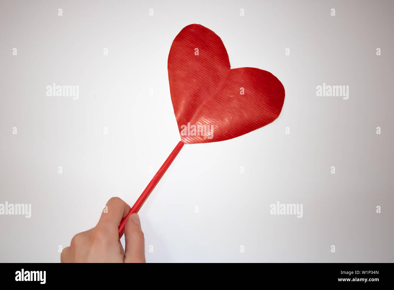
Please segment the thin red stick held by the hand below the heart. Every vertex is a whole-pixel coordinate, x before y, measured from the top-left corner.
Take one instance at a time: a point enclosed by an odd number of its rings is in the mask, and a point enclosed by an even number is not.
[[[138,200],[134,204],[134,206],[130,209],[128,214],[122,219],[121,224],[119,225],[119,238],[122,236],[123,231],[125,230],[125,225],[128,217],[132,213],[136,213],[139,211],[145,200],[148,198],[149,194],[151,191],[154,189],[156,184],[159,182],[159,180],[162,178],[164,175],[165,171],[167,171],[168,167],[171,165],[171,163],[174,161],[175,157],[177,157],[179,151],[182,149],[184,143],[182,141],[179,141],[177,146],[175,146],[174,150],[171,152],[171,154],[168,156],[168,158],[164,161],[162,167],[158,170],[158,172],[153,176],[151,182],[149,182],[148,186],[145,188],[145,190],[141,193],[139,196]]]

